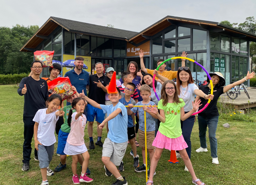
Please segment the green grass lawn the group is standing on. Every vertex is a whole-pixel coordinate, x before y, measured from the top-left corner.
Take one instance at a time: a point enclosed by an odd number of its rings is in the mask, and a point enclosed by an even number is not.
[[[34,154],[31,154],[30,170],[21,171],[22,167],[22,145],[23,145],[23,101],[24,98],[17,93],[17,88],[13,85],[0,85],[0,184],[22,184],[38,185],[42,182],[38,161],[34,160]],[[198,124],[194,125],[191,142],[192,153],[191,162],[196,176],[205,184],[256,184],[256,124],[253,121],[237,121],[236,116],[225,115],[220,117],[216,137],[218,139],[218,158],[219,165],[212,164],[209,139],[207,138],[208,152],[197,153],[195,150],[200,147],[198,137]],[[250,111],[251,120],[256,118],[256,111]],[[253,119],[254,117],[254,119]],[[234,118],[234,119],[233,119]],[[246,119],[245,119],[246,120]],[[229,123],[229,129],[222,127],[222,124]],[[85,128],[85,144],[89,148],[89,137],[87,128]],[[96,124],[93,130],[94,141],[97,140]],[[207,133],[208,136],[208,133]],[[107,137],[107,131],[104,128],[102,141]],[[56,135],[56,139],[58,139]],[[58,142],[58,141],[57,141]],[[32,139],[32,148],[34,139]],[[140,155],[140,164],[142,164],[141,149],[138,149]],[[55,153],[53,155],[50,168],[54,168],[60,163],[60,158],[56,154],[57,143],[55,143]],[[33,149],[32,149],[33,151]],[[129,185],[146,184],[146,173],[136,173],[134,171],[133,158],[129,154],[131,146],[128,144],[124,156],[124,172]],[[93,178],[92,185],[111,185],[116,181],[114,176],[107,177],[101,161],[102,148],[95,146],[95,150],[90,150],[89,168],[90,177]],[[148,156],[149,159],[149,156]],[[170,151],[164,150],[159,163],[156,167],[154,182],[156,185],[184,185],[192,184],[189,172],[184,171],[184,162],[180,159],[178,164],[170,164]],[[67,158],[67,168],[61,172],[48,177],[51,185],[73,184],[71,170],[71,156]],[[78,166],[77,174],[81,173]]]

